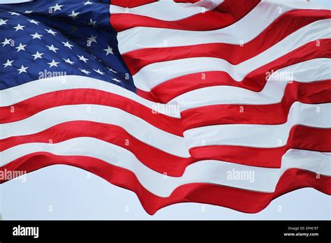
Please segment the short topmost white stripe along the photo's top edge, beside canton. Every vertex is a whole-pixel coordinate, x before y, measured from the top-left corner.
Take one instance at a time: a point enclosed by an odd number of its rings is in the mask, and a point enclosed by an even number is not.
[[[110,5],[110,13],[130,13],[143,15],[157,20],[175,21],[191,17],[207,10],[212,10],[219,6],[223,0],[200,1],[198,4],[175,3],[175,1],[156,1],[144,4],[135,8],[123,8],[121,6]]]

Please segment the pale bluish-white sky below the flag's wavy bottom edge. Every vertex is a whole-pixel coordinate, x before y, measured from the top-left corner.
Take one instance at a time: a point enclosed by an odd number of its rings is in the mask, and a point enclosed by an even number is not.
[[[331,0],[311,2],[331,8]],[[0,185],[3,219],[331,219],[331,197],[311,188],[287,193],[257,214],[186,202],[150,216],[135,193],[79,168],[54,165],[26,179]]]

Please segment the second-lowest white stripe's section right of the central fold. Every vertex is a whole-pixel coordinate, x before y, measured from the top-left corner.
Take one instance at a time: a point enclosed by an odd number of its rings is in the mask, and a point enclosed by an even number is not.
[[[203,126],[184,131],[189,148],[208,145],[247,147],[282,147],[286,145],[290,128],[297,124],[316,128],[331,128],[331,103],[304,104],[295,102],[288,121],[280,125],[225,124]]]

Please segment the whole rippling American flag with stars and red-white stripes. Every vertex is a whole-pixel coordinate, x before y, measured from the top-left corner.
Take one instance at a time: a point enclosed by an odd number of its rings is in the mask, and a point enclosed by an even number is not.
[[[0,171],[73,165],[149,214],[330,195],[330,17],[309,1],[1,4]]]

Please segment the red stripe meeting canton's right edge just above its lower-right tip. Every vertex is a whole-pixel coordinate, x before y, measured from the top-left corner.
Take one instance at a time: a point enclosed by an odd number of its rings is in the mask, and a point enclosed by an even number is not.
[[[218,57],[229,61],[231,64],[240,64],[247,59],[255,57],[261,52],[264,52],[272,47],[272,45],[275,45],[286,38],[286,36],[289,36],[307,24],[330,18],[330,13],[330,10],[289,11],[278,17],[277,20],[274,20],[267,29],[243,46],[226,43],[209,43],[183,47],[145,48],[127,52],[122,56],[132,75],[149,64],[189,57]],[[134,21],[131,20],[131,22],[128,23],[132,24]],[[153,22],[149,21],[149,23],[152,24]],[[198,23],[193,22],[192,24],[194,27],[198,27],[200,24],[207,24],[212,27],[212,23],[216,24],[217,22],[200,21]]]

